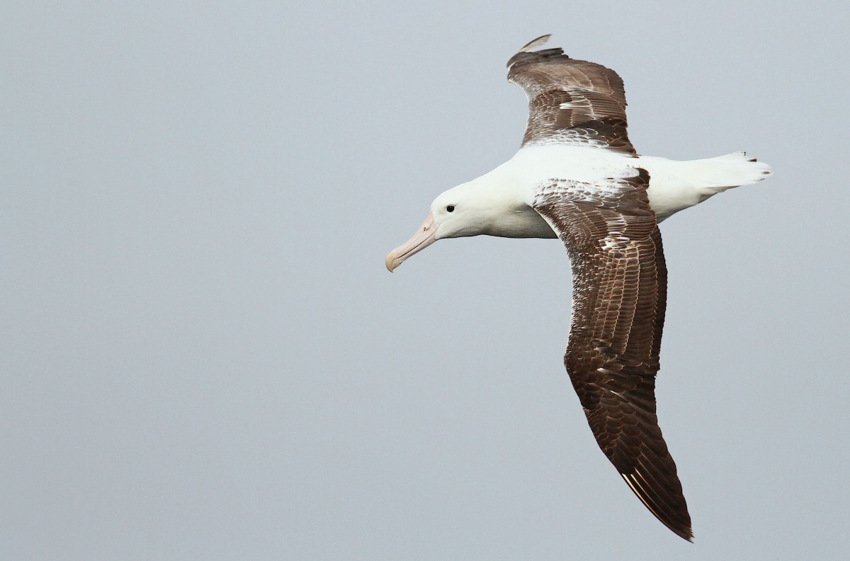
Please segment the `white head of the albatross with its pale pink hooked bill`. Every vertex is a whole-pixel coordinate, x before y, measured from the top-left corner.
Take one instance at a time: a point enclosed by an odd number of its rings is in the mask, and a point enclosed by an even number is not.
[[[450,188],[431,203],[431,212],[413,237],[389,252],[389,272],[441,238],[462,238],[490,232],[495,201],[482,196],[474,182]]]

